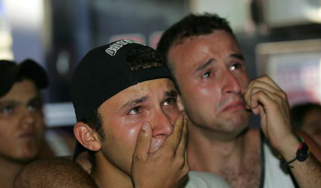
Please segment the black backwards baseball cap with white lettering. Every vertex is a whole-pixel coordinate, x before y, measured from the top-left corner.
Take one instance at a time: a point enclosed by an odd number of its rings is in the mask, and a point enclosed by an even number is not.
[[[70,87],[77,122],[132,85],[159,78],[171,79],[167,66],[153,66],[138,71],[130,69],[126,54],[131,49],[143,46],[151,48],[134,40],[118,40],[94,48],[82,58],[73,73]],[[77,141],[74,160],[85,150]]]

